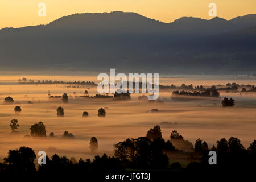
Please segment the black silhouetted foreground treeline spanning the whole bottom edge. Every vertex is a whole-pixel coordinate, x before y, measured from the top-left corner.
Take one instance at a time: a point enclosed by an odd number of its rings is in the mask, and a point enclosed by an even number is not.
[[[180,142],[189,151],[177,149],[173,143]],[[256,162],[256,140],[249,148],[245,149],[240,139],[236,137],[221,138],[216,142],[216,147],[209,147],[207,142],[200,138],[193,145],[191,142],[172,131],[170,139],[165,141],[159,126],[148,130],[146,137],[126,139],[114,145],[114,156],[106,154],[101,157],[96,155],[94,160],[81,158],[68,159],[65,156],[47,156],[46,164],[35,167],[36,155],[34,150],[28,147],[20,147],[17,150],[10,150],[8,156],[0,163],[0,175],[27,173],[37,175],[60,175],[82,174],[88,177],[96,177],[95,174],[102,175],[107,172],[123,172],[125,169],[150,169],[165,171],[207,171],[225,172],[228,170],[250,170],[255,169]],[[209,151],[217,153],[217,164],[209,164]],[[182,167],[179,162],[170,164],[169,157],[173,154],[185,154],[190,160],[187,167]],[[178,160],[178,159],[177,159]],[[213,170],[213,171],[212,171]]]

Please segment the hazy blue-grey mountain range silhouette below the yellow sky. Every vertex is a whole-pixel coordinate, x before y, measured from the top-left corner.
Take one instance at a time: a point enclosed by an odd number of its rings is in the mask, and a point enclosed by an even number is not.
[[[163,23],[114,11],[0,30],[1,69],[10,71],[255,73],[255,50],[256,14]]]

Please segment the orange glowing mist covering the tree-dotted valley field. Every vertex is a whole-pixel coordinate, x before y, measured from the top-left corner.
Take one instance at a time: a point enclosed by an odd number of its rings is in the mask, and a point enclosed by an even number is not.
[[[255,139],[256,129],[256,94],[220,92],[220,98],[201,98],[192,101],[175,101],[171,98],[171,90],[160,90],[159,100],[163,102],[138,101],[142,94],[131,94],[129,101],[110,101],[108,99],[86,100],[75,96],[83,96],[88,90],[89,96],[97,93],[97,86],[64,85],[64,84],[18,84],[19,76],[1,76],[0,78],[0,160],[7,156],[9,150],[20,146],[31,147],[37,153],[46,151],[51,156],[55,153],[68,157],[92,159],[94,155],[114,154],[114,144],[127,138],[146,136],[147,131],[160,125],[165,140],[170,139],[172,130],[177,130],[184,139],[193,144],[200,138],[207,141],[209,147],[220,138],[238,137],[247,148]],[[96,77],[72,76],[28,76],[37,80],[86,80],[97,81]],[[215,79],[215,80],[214,80]],[[213,85],[236,82],[233,79],[216,80],[216,78],[160,78],[163,85]],[[240,84],[256,84],[253,79],[241,79]],[[69,102],[49,98],[67,93]],[[75,92],[75,94],[74,94]],[[4,104],[5,97],[14,99],[14,104]],[[221,106],[223,97],[236,100],[234,107]],[[32,104],[27,102],[31,101]],[[20,106],[22,111],[15,114],[14,107]],[[57,107],[64,108],[64,117],[57,117]],[[98,117],[97,111],[105,108],[106,117]],[[159,113],[147,113],[158,109]],[[88,111],[89,117],[82,117]],[[18,119],[18,132],[11,132],[10,120]],[[46,126],[47,137],[24,137],[30,134],[30,126],[42,121]],[[64,131],[69,131],[75,138],[63,138]],[[48,137],[54,132],[55,137]],[[98,139],[98,150],[91,152],[91,137]]]

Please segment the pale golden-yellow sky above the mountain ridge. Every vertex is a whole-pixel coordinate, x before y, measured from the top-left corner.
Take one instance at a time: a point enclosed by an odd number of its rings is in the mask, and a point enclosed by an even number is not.
[[[46,16],[38,16],[39,3]],[[162,22],[183,16],[211,19],[209,3],[216,3],[217,16],[232,19],[256,13],[255,0],[0,0],[0,28],[47,24],[74,13],[135,12]]]

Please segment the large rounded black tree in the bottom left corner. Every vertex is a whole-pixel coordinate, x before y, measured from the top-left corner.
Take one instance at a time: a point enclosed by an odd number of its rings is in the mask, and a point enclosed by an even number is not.
[[[31,173],[35,172],[34,150],[28,147],[20,147],[19,150],[9,150],[8,157],[4,158],[5,164],[9,165],[10,172]]]

